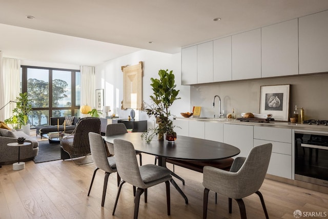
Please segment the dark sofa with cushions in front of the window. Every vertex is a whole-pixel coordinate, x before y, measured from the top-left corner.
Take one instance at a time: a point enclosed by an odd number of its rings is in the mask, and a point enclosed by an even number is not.
[[[50,117],[50,125],[49,126],[38,126],[35,128],[36,131],[36,136],[40,135],[42,138],[43,134],[48,134],[49,132],[56,132],[56,131],[64,131],[64,121],[65,119],[67,120],[68,118],[73,120],[72,125],[65,125],[65,133],[72,133],[73,130],[76,127],[76,124],[79,120],[78,117],[75,116],[69,116],[69,117]],[[59,126],[58,124],[59,120]],[[59,130],[58,130],[59,128]]]

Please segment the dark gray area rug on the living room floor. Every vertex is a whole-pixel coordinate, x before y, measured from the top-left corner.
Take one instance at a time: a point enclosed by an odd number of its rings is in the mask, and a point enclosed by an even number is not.
[[[60,144],[49,141],[39,141],[39,152],[34,157],[34,163],[60,160]]]

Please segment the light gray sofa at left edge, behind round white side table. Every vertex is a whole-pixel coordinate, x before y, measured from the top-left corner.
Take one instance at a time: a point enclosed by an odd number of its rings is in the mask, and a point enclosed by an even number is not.
[[[0,166],[18,162],[18,147],[7,146],[9,143],[17,143],[18,137],[24,137],[25,142],[31,145],[20,147],[20,161],[31,161],[39,151],[39,143],[35,138],[23,131],[15,131],[0,128]]]

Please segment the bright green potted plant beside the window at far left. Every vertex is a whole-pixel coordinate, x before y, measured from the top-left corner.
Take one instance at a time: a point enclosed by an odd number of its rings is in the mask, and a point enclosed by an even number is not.
[[[28,114],[32,110],[32,105],[29,103],[29,98],[27,93],[19,93],[19,96],[16,97],[16,108],[12,110],[13,116],[5,120],[5,123],[11,124],[13,129],[21,129],[26,134],[30,134],[30,124],[28,124]]]

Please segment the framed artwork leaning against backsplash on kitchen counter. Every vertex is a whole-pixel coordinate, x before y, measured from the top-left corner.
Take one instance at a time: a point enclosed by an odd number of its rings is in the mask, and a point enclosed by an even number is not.
[[[272,114],[276,121],[289,120],[290,85],[261,86],[260,114]]]

